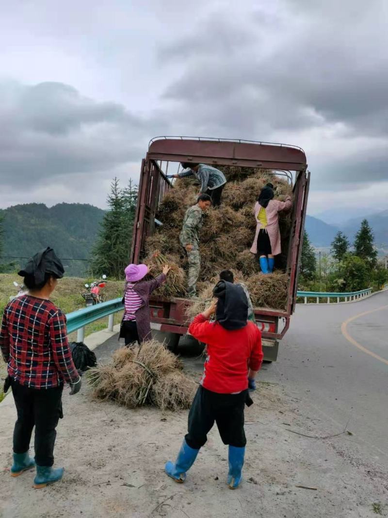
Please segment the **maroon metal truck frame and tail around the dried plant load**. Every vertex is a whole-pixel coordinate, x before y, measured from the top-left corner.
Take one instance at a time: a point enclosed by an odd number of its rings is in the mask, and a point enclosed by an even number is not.
[[[289,275],[286,309],[255,308],[256,322],[263,336],[264,359],[274,361],[277,357],[278,341],[287,332],[295,308],[309,187],[305,153],[295,146],[245,140],[188,137],[152,139],[141,165],[132,236],[133,263],[140,261],[145,238],[155,232],[158,224],[155,214],[163,195],[171,188],[166,174],[176,172],[180,162],[204,163],[214,167],[224,165],[265,168],[276,175],[285,176],[293,185],[292,226],[285,261],[285,271]],[[186,298],[162,299],[155,295],[150,300],[152,328],[168,333],[170,347],[173,349],[177,348],[180,337],[187,332],[185,307],[188,305],[190,299]]]

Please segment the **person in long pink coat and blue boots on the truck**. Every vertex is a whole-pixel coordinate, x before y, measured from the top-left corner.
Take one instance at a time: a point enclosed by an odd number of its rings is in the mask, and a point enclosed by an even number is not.
[[[281,210],[290,210],[292,207],[291,196],[287,196],[285,202],[273,199],[274,196],[272,183],[267,183],[261,190],[254,209],[257,227],[250,251],[259,257],[263,274],[272,274],[274,256],[281,252],[278,213]]]

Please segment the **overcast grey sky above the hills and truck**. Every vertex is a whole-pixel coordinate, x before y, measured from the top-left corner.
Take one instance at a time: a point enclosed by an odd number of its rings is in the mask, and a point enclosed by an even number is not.
[[[148,140],[301,146],[308,212],[388,203],[386,0],[15,0],[0,7],[0,207],[105,207]]]

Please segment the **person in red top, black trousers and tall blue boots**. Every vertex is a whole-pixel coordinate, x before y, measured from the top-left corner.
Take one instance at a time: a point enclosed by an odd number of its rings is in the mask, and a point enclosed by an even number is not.
[[[248,304],[241,286],[219,281],[213,293],[217,303],[189,326],[189,334],[206,343],[207,356],[189,412],[188,433],[175,463],[169,461],[165,470],[176,482],[184,482],[216,422],[222,442],[229,445],[228,485],[235,489],[241,483],[244,464],[248,377],[255,379],[263,361],[261,333],[247,322]],[[209,322],[214,313],[216,321]]]

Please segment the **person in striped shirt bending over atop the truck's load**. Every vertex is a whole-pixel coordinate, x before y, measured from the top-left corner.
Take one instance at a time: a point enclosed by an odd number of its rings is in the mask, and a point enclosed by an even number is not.
[[[219,207],[222,190],[227,182],[223,172],[206,164],[181,162],[181,165],[187,170],[179,172],[177,175],[172,175],[172,178],[195,176],[201,182],[200,194],[208,194],[212,198],[213,207]]]

